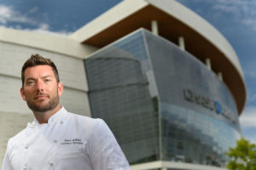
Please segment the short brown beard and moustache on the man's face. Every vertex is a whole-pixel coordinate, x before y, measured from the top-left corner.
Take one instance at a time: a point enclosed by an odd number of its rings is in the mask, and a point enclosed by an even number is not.
[[[59,104],[59,95],[58,92],[52,96],[52,98],[49,97],[48,94],[42,94],[38,93],[37,95],[46,95],[49,99],[47,104],[43,104],[44,99],[42,101],[34,102],[33,100],[26,100],[27,106],[32,110],[36,112],[45,112],[45,111],[52,111],[55,109],[55,107]]]

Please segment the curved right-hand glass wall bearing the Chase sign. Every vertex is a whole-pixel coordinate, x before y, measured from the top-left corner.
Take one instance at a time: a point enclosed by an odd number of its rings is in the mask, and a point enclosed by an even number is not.
[[[223,167],[240,136],[235,101],[195,57],[145,32],[160,98],[161,159]]]

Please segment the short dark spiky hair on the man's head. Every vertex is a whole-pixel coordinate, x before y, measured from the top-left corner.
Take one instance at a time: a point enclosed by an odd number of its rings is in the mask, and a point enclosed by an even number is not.
[[[24,82],[25,82],[24,73],[26,69],[28,67],[37,66],[37,65],[49,65],[54,71],[56,81],[60,82],[59,73],[54,62],[51,59],[46,59],[39,54],[32,54],[31,57],[27,59],[24,65],[22,66],[22,70],[21,70],[22,86],[24,85]]]

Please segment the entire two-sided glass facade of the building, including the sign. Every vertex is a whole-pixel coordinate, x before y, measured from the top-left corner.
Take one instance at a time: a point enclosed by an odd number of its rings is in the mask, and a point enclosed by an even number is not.
[[[224,167],[240,137],[235,101],[206,65],[140,29],[84,60],[93,117],[104,119],[131,164]]]

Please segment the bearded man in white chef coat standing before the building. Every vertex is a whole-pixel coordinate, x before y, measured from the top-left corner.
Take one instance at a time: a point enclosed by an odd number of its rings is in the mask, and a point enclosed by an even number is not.
[[[35,54],[22,67],[20,94],[35,119],[9,139],[3,170],[130,170],[101,119],[67,112],[55,64]]]

